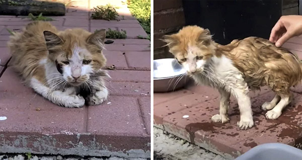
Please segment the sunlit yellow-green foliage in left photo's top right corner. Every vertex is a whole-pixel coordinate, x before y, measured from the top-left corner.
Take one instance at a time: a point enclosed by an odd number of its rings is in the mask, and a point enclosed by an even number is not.
[[[144,31],[150,37],[151,33],[151,1],[150,0],[127,0],[131,14],[137,19]]]

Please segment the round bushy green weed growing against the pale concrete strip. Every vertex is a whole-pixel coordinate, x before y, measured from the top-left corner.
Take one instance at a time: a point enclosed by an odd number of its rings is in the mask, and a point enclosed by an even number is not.
[[[115,8],[109,4],[106,6],[97,6],[92,9],[94,13],[91,15],[92,19],[101,19],[101,20],[115,20],[118,16]]]

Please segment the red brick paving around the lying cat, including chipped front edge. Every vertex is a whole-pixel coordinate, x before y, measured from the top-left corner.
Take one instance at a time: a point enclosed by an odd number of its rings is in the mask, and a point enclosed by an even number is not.
[[[105,45],[112,76],[108,101],[99,106],[67,109],[56,106],[21,83],[10,66],[6,28],[20,31],[31,21],[0,16],[0,152],[150,157],[150,48],[146,33],[121,1],[120,21],[90,20],[99,1],[78,1],[66,16],[53,17],[59,30],[81,27],[93,32],[126,30],[127,39]]]

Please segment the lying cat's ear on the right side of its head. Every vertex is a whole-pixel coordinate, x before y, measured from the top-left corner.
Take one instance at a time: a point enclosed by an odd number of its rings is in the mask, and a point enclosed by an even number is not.
[[[106,38],[106,29],[101,29],[91,34],[86,41],[89,44],[97,45],[99,48],[103,49],[105,38]]]

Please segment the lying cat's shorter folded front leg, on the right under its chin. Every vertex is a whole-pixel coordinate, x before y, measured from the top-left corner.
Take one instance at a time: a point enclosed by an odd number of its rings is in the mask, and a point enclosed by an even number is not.
[[[101,87],[99,89],[91,89],[92,93],[86,98],[86,103],[89,106],[95,106],[103,103],[107,100],[108,90],[106,87]]]

